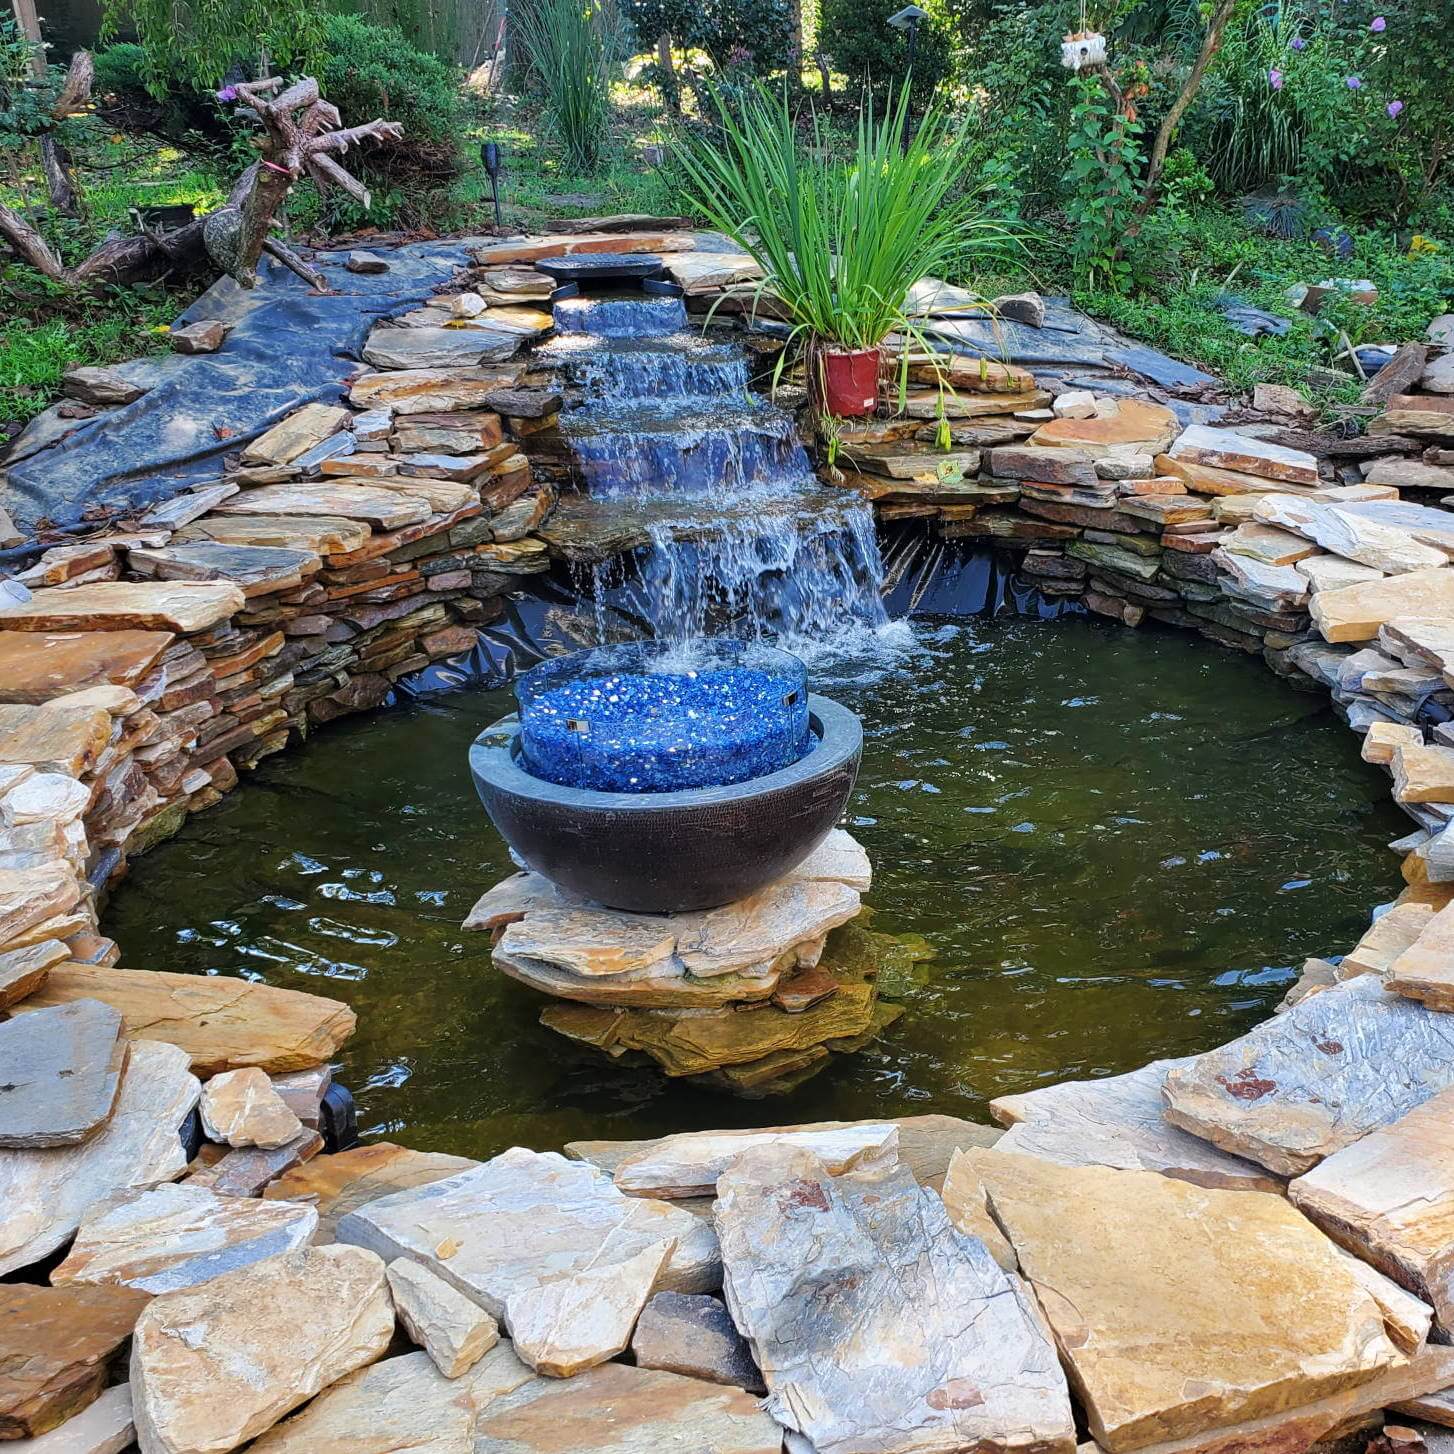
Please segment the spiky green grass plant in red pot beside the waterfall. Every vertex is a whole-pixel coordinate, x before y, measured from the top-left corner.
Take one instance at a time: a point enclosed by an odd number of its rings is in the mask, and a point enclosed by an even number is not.
[[[874,413],[884,340],[917,337],[909,289],[1016,241],[970,182],[970,116],[935,103],[904,147],[906,84],[883,115],[859,113],[852,153],[836,157],[816,115],[800,145],[785,93],[710,95],[714,132],[676,147],[695,205],[762,269],[758,295],[804,346],[819,413]]]

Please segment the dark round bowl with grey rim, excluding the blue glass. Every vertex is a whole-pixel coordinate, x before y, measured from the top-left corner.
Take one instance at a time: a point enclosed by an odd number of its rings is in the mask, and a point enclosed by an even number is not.
[[[806,758],[727,788],[592,792],[528,774],[518,717],[470,747],[490,822],[521,862],[583,899],[634,913],[715,909],[781,878],[838,823],[858,778],[864,728],[808,696]]]

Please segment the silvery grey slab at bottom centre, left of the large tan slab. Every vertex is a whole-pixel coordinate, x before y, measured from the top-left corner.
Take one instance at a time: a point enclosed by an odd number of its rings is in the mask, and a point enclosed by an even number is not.
[[[819,1454],[1073,1448],[1028,1294],[906,1168],[830,1176],[759,1146],[718,1181],[715,1223],[765,1407]]]

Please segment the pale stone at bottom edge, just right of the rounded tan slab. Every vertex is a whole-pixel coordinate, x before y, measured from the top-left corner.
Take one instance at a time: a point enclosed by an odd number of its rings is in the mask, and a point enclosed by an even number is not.
[[[474,1423],[532,1377],[500,1343],[474,1373],[442,1378],[426,1354],[359,1368],[275,1425],[250,1454],[474,1454]]]

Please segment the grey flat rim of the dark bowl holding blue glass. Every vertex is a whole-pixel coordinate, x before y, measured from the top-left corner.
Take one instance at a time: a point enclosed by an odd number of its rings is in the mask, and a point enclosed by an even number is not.
[[[794,788],[824,772],[855,760],[864,750],[864,726],[858,714],[830,696],[808,692],[808,727],[814,744],[797,762],[776,772],[715,788],[678,788],[672,792],[602,792],[570,788],[526,772],[516,762],[521,720],[516,712],[491,723],[470,744],[470,774],[478,787],[509,792],[537,803],[595,810],[598,813],[662,813],[742,803]]]

